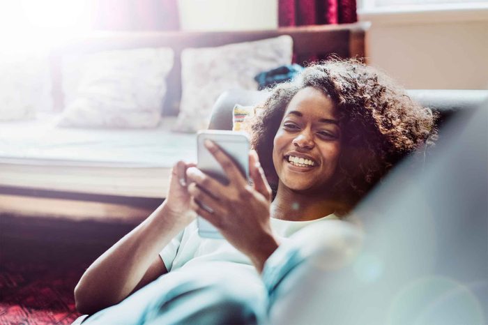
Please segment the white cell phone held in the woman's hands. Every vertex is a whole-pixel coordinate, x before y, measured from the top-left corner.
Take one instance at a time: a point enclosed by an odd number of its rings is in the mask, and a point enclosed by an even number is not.
[[[247,133],[227,130],[206,130],[197,135],[197,168],[205,174],[217,179],[221,183],[227,184],[229,180],[225,175],[220,163],[215,160],[212,153],[206,149],[204,142],[209,139],[227,153],[234,162],[245,179],[249,179],[249,137]],[[203,206],[204,209],[211,209]],[[198,216],[198,233],[201,237],[212,239],[224,239],[222,234],[210,222]]]

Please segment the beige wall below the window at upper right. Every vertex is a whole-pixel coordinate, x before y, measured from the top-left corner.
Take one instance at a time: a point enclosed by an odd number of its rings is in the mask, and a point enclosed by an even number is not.
[[[488,11],[360,20],[372,22],[369,63],[407,89],[487,89]]]

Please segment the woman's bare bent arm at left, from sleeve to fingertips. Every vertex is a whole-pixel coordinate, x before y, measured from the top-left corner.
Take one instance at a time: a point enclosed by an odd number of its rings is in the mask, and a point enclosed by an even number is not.
[[[188,167],[183,162],[175,165],[166,201],[85,271],[75,287],[79,312],[92,314],[119,303],[167,272],[160,251],[196,216],[188,209]]]

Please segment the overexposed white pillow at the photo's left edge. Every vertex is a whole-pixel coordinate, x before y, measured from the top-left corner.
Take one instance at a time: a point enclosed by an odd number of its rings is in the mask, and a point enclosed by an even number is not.
[[[49,61],[44,55],[0,56],[0,121],[35,119],[52,110]]]

